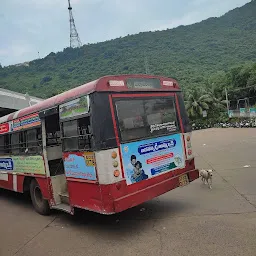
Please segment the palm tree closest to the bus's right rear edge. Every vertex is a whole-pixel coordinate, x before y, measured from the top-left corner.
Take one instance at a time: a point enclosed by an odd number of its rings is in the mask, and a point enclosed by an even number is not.
[[[209,110],[212,102],[211,96],[209,94],[203,94],[199,89],[188,91],[185,105],[189,117],[194,118],[202,116],[204,110]]]

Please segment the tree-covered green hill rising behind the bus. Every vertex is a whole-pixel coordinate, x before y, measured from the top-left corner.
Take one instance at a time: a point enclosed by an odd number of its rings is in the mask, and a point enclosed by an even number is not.
[[[0,68],[0,87],[49,97],[103,75],[145,73],[178,79],[183,88],[204,86],[218,71],[256,61],[256,1],[220,18],[165,31],[128,35],[66,48],[29,66]]]

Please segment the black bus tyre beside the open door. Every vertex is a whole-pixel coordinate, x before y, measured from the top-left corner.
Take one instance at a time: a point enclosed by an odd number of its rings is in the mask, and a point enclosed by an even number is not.
[[[41,215],[50,214],[49,203],[43,198],[40,186],[36,180],[32,180],[30,183],[30,196],[36,212]]]

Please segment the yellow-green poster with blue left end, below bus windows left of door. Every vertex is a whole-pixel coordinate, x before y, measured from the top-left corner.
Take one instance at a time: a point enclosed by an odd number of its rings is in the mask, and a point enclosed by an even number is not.
[[[45,174],[42,156],[12,156],[0,158],[0,171]]]

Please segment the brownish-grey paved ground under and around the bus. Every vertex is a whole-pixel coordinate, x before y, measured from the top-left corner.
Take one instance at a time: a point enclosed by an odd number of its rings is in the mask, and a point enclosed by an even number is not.
[[[43,217],[0,191],[0,255],[255,256],[256,129],[196,131],[193,145],[212,190],[197,180],[115,216]]]

